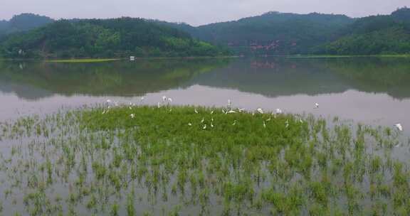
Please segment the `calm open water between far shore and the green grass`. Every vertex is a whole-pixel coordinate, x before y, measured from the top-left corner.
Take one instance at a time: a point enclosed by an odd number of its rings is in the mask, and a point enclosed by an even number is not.
[[[117,102],[225,106],[340,117],[410,130],[409,58],[0,62],[0,120]],[[315,102],[320,104],[314,109]]]

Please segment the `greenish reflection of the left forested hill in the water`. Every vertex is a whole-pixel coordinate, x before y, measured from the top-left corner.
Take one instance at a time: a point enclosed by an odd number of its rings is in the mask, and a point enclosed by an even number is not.
[[[228,60],[141,60],[132,63],[20,63],[0,62],[0,82],[20,97],[61,95],[142,95],[178,87],[194,75],[228,64]],[[17,87],[19,86],[19,87]],[[21,87],[38,89],[36,97]]]

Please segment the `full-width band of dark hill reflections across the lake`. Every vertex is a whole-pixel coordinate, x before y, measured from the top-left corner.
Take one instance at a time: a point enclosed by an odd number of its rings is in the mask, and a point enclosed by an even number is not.
[[[134,96],[199,84],[268,97],[355,89],[410,97],[407,58],[144,60],[134,63],[0,62],[0,91],[36,99],[60,95]],[[22,66],[22,67],[20,67]],[[21,69],[23,68],[23,69]]]

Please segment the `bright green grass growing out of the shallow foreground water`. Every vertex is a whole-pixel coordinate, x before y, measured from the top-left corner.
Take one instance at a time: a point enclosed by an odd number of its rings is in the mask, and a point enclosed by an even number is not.
[[[3,212],[410,214],[409,164],[394,157],[395,130],[159,105],[101,105],[0,124],[2,143],[12,146],[0,160]]]

